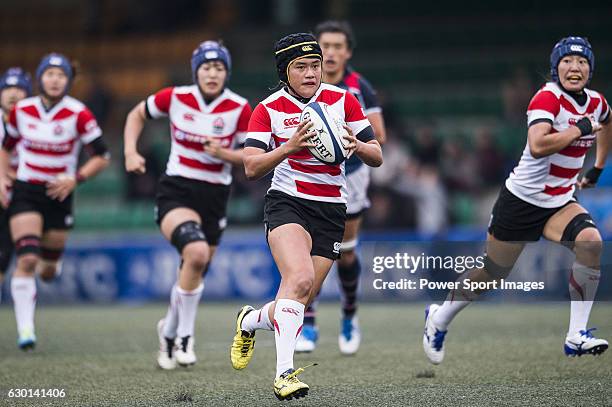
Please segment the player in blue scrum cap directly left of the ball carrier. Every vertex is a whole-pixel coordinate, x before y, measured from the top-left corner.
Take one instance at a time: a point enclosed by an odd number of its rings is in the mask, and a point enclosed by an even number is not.
[[[162,369],[193,365],[195,319],[203,278],[223,230],[232,165],[242,165],[242,145],[251,108],[226,85],[231,57],[226,47],[205,41],[191,57],[194,84],[160,90],[140,102],[125,124],[125,168],[144,173],[137,142],[146,119],[168,117],[172,149],[159,181],[156,221],[181,255],[178,281],[166,317],[158,323]]]

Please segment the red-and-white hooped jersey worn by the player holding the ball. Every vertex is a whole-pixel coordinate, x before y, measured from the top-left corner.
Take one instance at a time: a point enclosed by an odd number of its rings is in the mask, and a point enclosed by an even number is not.
[[[355,135],[370,126],[359,101],[345,89],[323,83],[310,100],[328,104]],[[247,138],[272,149],[279,147],[295,133],[305,107],[285,89],[273,93],[253,111]],[[304,148],[276,166],[270,190],[312,201],[346,203],[344,162],[322,164]]]

